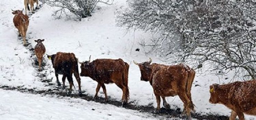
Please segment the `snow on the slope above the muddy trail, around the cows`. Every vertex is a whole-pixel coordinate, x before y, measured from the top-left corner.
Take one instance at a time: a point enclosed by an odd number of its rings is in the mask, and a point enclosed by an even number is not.
[[[36,44],[34,42],[35,39],[45,39],[43,43],[46,47],[47,54],[73,52],[80,61],[88,60],[89,55],[91,55],[92,60],[98,58],[122,58],[125,62],[130,64],[128,86],[130,88],[130,101],[134,101],[132,104],[148,105],[153,103],[156,107],[156,100],[150,83],[140,81],[139,68],[132,63],[132,60],[144,62],[151,57],[153,58],[153,62],[163,62],[158,60],[157,57],[146,56],[143,52],[143,48],[141,48],[140,52],[135,51],[136,48],[140,48],[140,40],[148,37],[146,33],[141,31],[134,33],[132,31],[126,34],[124,28],[116,27],[116,15],[114,12],[120,7],[126,7],[125,1],[126,0],[116,0],[113,5],[101,5],[101,9],[97,10],[92,17],[84,18],[81,21],[66,20],[65,17],[56,20],[52,17],[55,8],[44,4],[38,12],[30,17],[27,32],[30,34],[27,35],[27,38],[30,38],[29,42],[32,43],[33,46]],[[22,41],[17,40],[17,29],[12,22],[13,15],[11,14],[11,9],[22,9],[24,7],[23,1],[4,0],[1,1],[0,6],[0,84],[47,89],[48,87],[45,86],[44,83],[34,77],[37,74],[37,69],[33,68],[31,64],[32,60],[29,51],[22,46]],[[47,64],[51,64],[49,60]],[[43,72],[50,73],[50,71],[53,71],[53,68],[44,69]],[[81,72],[81,69],[79,69],[79,71]],[[230,76],[227,76],[229,78],[227,80],[215,75],[197,76],[195,78],[191,93],[197,112],[201,112],[202,114],[213,113],[230,115],[230,110],[224,105],[210,104],[208,102],[210,98],[209,86],[213,83],[228,83],[230,82]],[[53,78],[53,83],[56,82],[54,73],[51,73],[47,77]],[[61,78],[61,76],[59,76],[59,78]],[[75,80],[75,78],[73,79]],[[97,82],[88,77],[81,77],[81,79],[82,90],[93,96]],[[74,83],[77,88],[77,83]],[[106,89],[108,96],[121,100],[122,90],[115,84],[106,85]],[[5,93],[6,92],[1,94]],[[30,97],[30,95],[25,96]],[[100,89],[99,96],[104,97],[102,89]],[[167,101],[172,108],[180,107],[183,109],[183,103],[179,97],[168,97]],[[40,102],[43,103],[44,101],[40,100]],[[1,104],[4,103],[1,101]],[[17,107],[17,109],[19,108]],[[23,113],[20,114],[22,115]],[[80,112],[80,114],[82,114],[82,112]],[[105,118],[108,117],[107,115],[103,116]],[[253,117],[247,115],[246,118],[253,119]],[[254,118],[256,119],[256,117]]]

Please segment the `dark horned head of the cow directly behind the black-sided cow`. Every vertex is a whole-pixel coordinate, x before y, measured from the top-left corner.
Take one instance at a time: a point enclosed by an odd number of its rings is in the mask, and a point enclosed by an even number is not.
[[[90,60],[91,60],[91,56],[89,57],[89,61],[84,61],[84,62],[79,62],[78,58],[77,58],[77,61],[78,63],[81,64],[81,73],[80,73],[80,76],[86,76],[88,77],[89,74],[90,74]]]

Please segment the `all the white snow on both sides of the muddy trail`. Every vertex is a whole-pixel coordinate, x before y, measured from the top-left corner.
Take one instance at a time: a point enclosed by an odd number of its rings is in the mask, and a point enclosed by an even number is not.
[[[166,63],[160,61],[157,57],[144,54],[143,48],[141,48],[139,42],[142,39],[147,39],[150,35],[138,30],[127,33],[124,28],[116,26],[116,15],[114,13],[120,7],[127,6],[125,1],[126,0],[118,0],[115,1],[113,5],[101,5],[101,9],[97,10],[92,17],[84,18],[81,21],[67,20],[65,17],[62,19],[54,19],[52,13],[55,8],[44,4],[38,12],[30,17],[27,32],[30,34],[27,34],[27,39],[29,38],[29,42],[32,43],[33,46],[36,44],[36,42],[34,42],[35,39],[45,39],[43,44],[46,48],[46,54],[49,55],[56,54],[57,52],[72,52],[80,61],[88,60],[90,55],[91,60],[99,58],[122,58],[130,65],[128,80],[130,91],[129,101],[133,101],[132,104],[136,105],[153,104],[153,106],[156,107],[153,88],[149,82],[140,81],[141,75],[139,67],[133,64],[132,60],[145,62],[151,57],[153,63]],[[12,23],[13,15],[11,14],[11,9],[22,9],[24,7],[23,1],[4,0],[0,3],[0,6],[0,84],[37,89],[49,88],[49,86],[45,86],[44,83],[40,82],[37,77],[34,77],[38,72],[37,69],[32,66],[33,60],[30,58],[30,53],[24,46],[22,46],[22,40],[17,40],[17,29]],[[140,48],[141,51],[136,52],[136,48]],[[44,56],[44,59],[47,58]],[[47,64],[51,64],[50,60],[46,61]],[[56,78],[54,73],[51,73],[52,71],[53,68],[51,67],[50,69],[44,69],[43,72],[50,73],[47,78],[53,78],[52,83],[56,84]],[[81,72],[80,67],[79,71]],[[230,82],[231,76],[233,75],[230,74],[223,78],[219,78],[215,75],[196,76],[191,89],[191,94],[197,112],[202,114],[213,113],[230,115],[231,111],[224,105],[209,103],[209,86],[213,83],[228,83]],[[62,76],[59,75],[60,80],[61,77]],[[229,79],[224,80],[225,77],[228,77]],[[75,80],[74,76],[73,79]],[[67,84],[68,83],[66,83],[66,85]],[[74,84],[75,87],[78,88],[76,81]],[[195,86],[196,84],[200,86]],[[93,81],[88,77],[81,77],[81,85],[82,91],[85,91],[86,94],[91,96],[95,95],[97,86],[96,81]],[[121,101],[122,90],[120,88],[115,84],[108,84],[105,86],[107,94],[108,96],[111,96],[111,99]],[[10,117],[17,119],[17,117],[21,117],[23,119],[28,119],[29,117],[32,117],[31,119],[75,119],[77,118],[76,116],[80,115],[80,117],[82,117],[78,119],[87,117],[92,117],[91,119],[112,119],[112,117],[116,115],[116,119],[118,119],[118,116],[122,118],[123,114],[127,117],[135,114],[134,111],[131,112],[127,110],[129,112],[126,112],[125,109],[116,108],[115,106],[102,105],[79,99],[76,99],[76,101],[79,101],[80,104],[83,103],[83,107],[81,107],[81,105],[78,106],[70,103],[67,100],[49,97],[38,97],[29,94],[21,95],[16,92],[2,90],[0,91],[0,94],[4,96],[3,98],[0,98],[0,104],[1,106],[4,106],[0,107],[0,115],[5,116],[6,118]],[[19,99],[13,97],[12,95],[14,94]],[[100,89],[99,96],[104,97],[102,89]],[[179,107],[183,109],[183,103],[178,96],[168,97],[167,102],[170,103],[171,108]],[[56,108],[54,107],[55,103],[57,105]],[[96,111],[91,111],[90,108],[93,107],[100,109],[100,111],[97,111],[97,109]],[[63,111],[63,109],[65,109],[65,111]],[[112,113],[112,116],[109,117],[107,114],[110,109],[120,109],[120,113],[118,113],[118,111],[112,111],[117,113]],[[85,112],[82,113],[81,111]],[[28,114],[30,112],[32,112],[31,115]],[[98,115],[100,112],[101,114]],[[59,115],[59,113],[62,114]],[[136,115],[140,116],[138,119],[143,119],[141,118],[143,115],[137,113]],[[245,117],[250,119],[256,118],[247,115],[245,115]]]

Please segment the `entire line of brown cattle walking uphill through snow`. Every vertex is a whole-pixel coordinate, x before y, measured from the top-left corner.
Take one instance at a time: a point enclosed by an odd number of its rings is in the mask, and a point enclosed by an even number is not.
[[[38,0],[24,0],[25,10],[27,9],[34,13],[33,4]],[[28,4],[30,4],[30,9]],[[37,7],[36,7],[37,8]],[[13,10],[12,10],[13,11]],[[29,25],[27,15],[23,14],[23,10],[13,11],[14,26],[18,29],[19,35],[23,37],[24,45],[26,45],[26,32]],[[44,39],[35,40],[34,52],[39,61],[39,70],[41,70],[41,63],[43,55],[45,54],[45,47],[43,45]],[[115,83],[123,91],[122,103],[127,104],[129,99],[128,88],[128,71],[129,64],[122,59],[96,59],[94,61],[79,62],[78,58],[73,53],[58,52],[54,55],[47,55],[51,60],[55,70],[57,84],[60,86],[58,74],[62,76],[63,88],[65,88],[65,80],[69,82],[69,92],[71,94],[73,84],[72,74],[74,74],[76,81],[79,85],[79,94],[81,92],[81,78],[80,76],[90,77],[98,82],[96,88],[95,98],[98,97],[100,87],[102,87],[105,101],[108,101],[106,88],[104,84]],[[186,114],[188,119],[191,119],[190,111],[195,111],[194,104],[191,99],[191,87],[195,78],[194,69],[187,65],[163,65],[153,63],[152,59],[143,63],[134,64],[138,65],[141,72],[141,80],[149,81],[154,89],[154,94],[157,101],[157,111],[160,110],[160,97],[163,100],[163,106],[167,109],[170,105],[166,102],[165,97],[179,96],[184,103],[183,114]],[[81,73],[79,75],[78,63],[81,64]],[[210,86],[210,103],[224,104],[232,110],[230,120],[235,120],[236,116],[240,120],[244,120],[244,114],[256,115],[256,80],[245,82],[233,82],[224,85],[213,84]]]

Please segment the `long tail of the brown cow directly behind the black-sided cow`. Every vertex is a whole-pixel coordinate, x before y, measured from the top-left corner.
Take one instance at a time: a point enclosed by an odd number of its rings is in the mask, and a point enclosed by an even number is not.
[[[125,62],[125,69],[123,72],[123,83],[126,86],[126,100],[129,100],[130,95],[129,95],[129,87],[128,87],[128,72],[129,72],[129,64]]]

